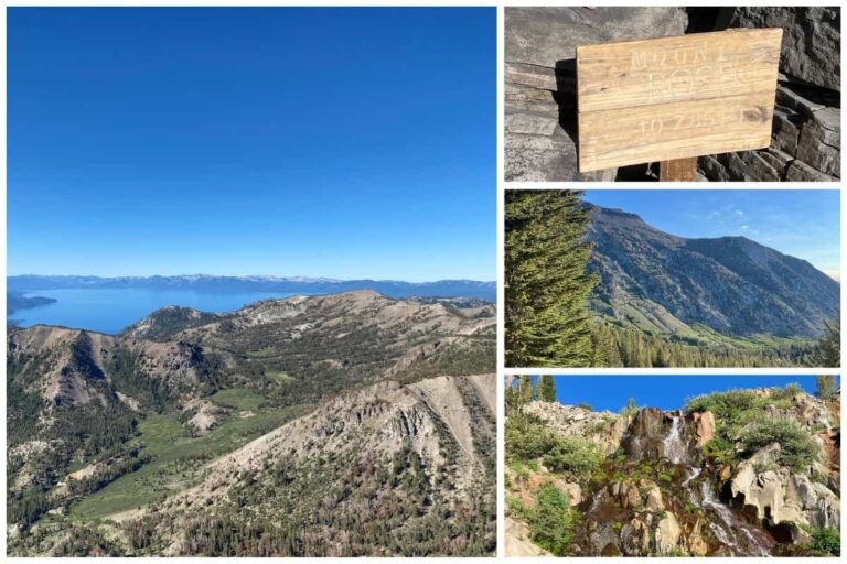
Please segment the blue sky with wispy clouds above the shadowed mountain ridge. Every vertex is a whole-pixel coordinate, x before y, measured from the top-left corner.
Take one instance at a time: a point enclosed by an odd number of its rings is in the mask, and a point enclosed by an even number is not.
[[[586,199],[637,214],[680,237],[741,235],[807,260],[830,275],[840,268],[835,189],[594,189]]]

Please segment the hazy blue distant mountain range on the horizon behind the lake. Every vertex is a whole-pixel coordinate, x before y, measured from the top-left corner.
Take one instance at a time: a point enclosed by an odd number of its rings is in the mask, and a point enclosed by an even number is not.
[[[403,282],[397,280],[334,280],[328,278],[213,276],[205,274],[178,276],[50,276],[24,274],[7,279],[9,291],[61,289],[194,290],[197,292],[286,292],[334,294],[353,290],[373,290],[389,297],[478,297],[496,300],[496,282],[474,280],[439,280]]]

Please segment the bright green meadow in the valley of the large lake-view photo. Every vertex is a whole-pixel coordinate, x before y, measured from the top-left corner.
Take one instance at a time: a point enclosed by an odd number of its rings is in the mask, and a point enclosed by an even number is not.
[[[257,394],[248,397],[255,404]],[[238,395],[237,398],[247,398]],[[260,398],[260,397],[259,397]],[[137,509],[162,499],[165,495],[196,482],[199,470],[213,458],[268,433],[276,426],[302,414],[303,408],[259,412],[250,417],[234,413],[208,435],[192,438],[175,415],[154,415],[140,425],[142,453],[153,459],[138,471],[121,476],[100,491],[87,496],[71,509],[71,519],[90,521]]]

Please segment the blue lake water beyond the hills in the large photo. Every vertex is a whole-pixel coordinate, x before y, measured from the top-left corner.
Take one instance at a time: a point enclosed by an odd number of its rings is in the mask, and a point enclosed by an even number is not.
[[[19,310],[9,316],[18,325],[62,325],[98,333],[116,334],[165,305],[193,307],[203,312],[233,312],[268,297],[288,297],[285,292],[245,292],[215,294],[190,290],[153,291],[146,289],[39,290],[24,295],[43,295],[55,303]]]

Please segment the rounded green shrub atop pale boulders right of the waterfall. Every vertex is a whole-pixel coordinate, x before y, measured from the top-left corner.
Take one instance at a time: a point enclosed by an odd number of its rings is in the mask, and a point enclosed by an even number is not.
[[[751,456],[772,443],[779,443],[780,463],[802,471],[821,457],[821,447],[794,421],[763,420],[744,431],[739,437],[742,456]]]

